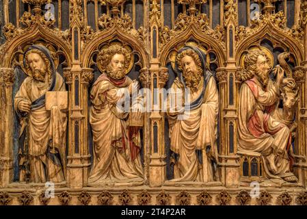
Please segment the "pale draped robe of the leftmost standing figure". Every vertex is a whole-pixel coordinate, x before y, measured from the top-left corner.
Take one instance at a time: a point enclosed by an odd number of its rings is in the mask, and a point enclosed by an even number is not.
[[[66,91],[64,79],[59,73],[56,74],[55,86],[53,91]],[[49,84],[35,81],[32,77],[27,77],[18,90],[14,107],[18,115],[23,115],[18,110],[20,101],[30,101],[35,103],[46,91]],[[31,182],[44,183],[53,181],[54,183],[64,181],[64,155],[66,143],[66,112],[62,112],[57,106],[51,110],[46,110],[45,105],[31,109],[26,124],[25,116],[21,116],[21,132],[28,129],[28,149],[29,149],[29,169]],[[28,127],[27,127],[28,126]],[[23,133],[21,133],[23,134]],[[51,142],[53,141],[53,142]],[[48,146],[55,146],[59,156],[53,155],[47,150]],[[20,152],[22,154],[22,152]],[[21,159],[21,164],[23,159]],[[20,181],[25,180],[25,172],[22,170]]]

